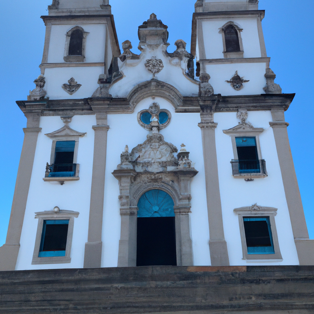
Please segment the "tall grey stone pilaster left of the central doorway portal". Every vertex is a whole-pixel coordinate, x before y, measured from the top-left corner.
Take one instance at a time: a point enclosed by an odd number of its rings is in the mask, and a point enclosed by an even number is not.
[[[94,158],[90,192],[88,242],[85,243],[84,268],[99,268],[101,266],[107,133],[109,130],[107,125],[108,103],[109,100],[102,100],[101,103],[95,104],[90,101],[90,105],[96,113],[97,125],[92,127],[95,131]]]

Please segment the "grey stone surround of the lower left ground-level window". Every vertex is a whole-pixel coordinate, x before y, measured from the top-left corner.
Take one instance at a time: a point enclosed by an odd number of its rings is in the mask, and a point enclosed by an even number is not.
[[[74,212],[72,210],[60,210],[59,212],[50,210],[35,213],[35,219],[38,219],[38,225],[35,238],[35,248],[33,253],[32,265],[71,263],[71,246],[73,237],[74,218],[78,218],[78,215],[79,215],[78,212]],[[69,220],[65,256],[38,257],[44,220]]]

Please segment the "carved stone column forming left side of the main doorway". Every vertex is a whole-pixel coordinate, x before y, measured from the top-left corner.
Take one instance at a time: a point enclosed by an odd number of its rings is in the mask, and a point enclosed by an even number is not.
[[[119,240],[118,267],[136,266],[137,206],[130,206],[130,185],[136,176],[133,169],[118,169],[112,172],[119,181],[121,236]]]

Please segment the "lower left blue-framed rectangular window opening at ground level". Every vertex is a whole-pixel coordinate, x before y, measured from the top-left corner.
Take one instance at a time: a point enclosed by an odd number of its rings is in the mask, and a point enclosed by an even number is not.
[[[44,220],[38,257],[65,256],[69,220]]]

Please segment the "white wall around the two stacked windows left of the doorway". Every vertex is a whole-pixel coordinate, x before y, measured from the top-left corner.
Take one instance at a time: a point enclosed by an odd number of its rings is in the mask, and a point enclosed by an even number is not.
[[[87,134],[79,138],[77,163],[80,164],[80,180],[65,182],[44,182],[46,162],[50,162],[52,139],[45,133],[51,133],[64,126],[58,116],[41,117],[33,172],[30,181],[29,196],[24,215],[20,240],[19,256],[16,270],[49,269],[49,268],[82,268],[84,262],[85,242],[88,235],[90,187],[92,180],[94,130],[96,124],[94,115],[74,116],[69,124],[71,128]],[[35,212],[52,210],[55,206],[60,209],[78,211],[78,218],[74,218],[71,263],[31,265],[38,219]]]

